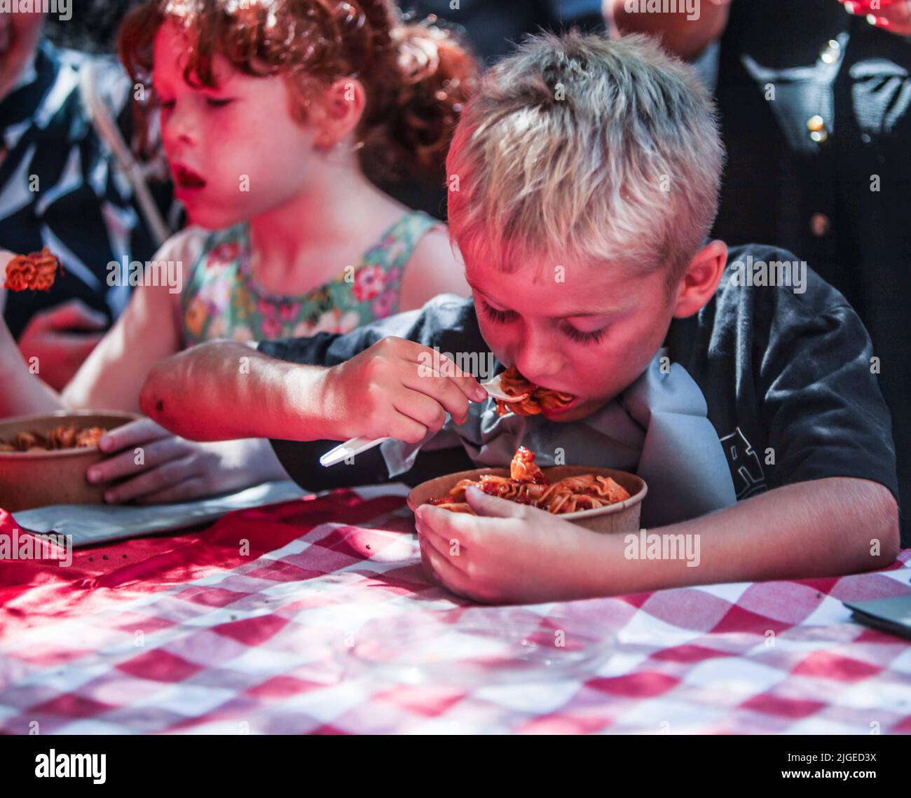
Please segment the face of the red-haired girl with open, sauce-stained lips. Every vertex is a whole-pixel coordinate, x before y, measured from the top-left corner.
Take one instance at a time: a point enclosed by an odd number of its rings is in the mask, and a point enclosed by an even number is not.
[[[315,163],[312,129],[292,118],[285,81],[251,77],[216,56],[219,87],[184,80],[187,50],[168,22],[155,36],[153,83],[175,194],[191,224],[228,227],[298,196]]]

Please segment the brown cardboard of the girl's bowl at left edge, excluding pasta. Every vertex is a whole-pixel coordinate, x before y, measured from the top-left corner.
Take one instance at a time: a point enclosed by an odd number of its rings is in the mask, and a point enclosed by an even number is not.
[[[17,432],[33,430],[44,434],[60,424],[114,429],[138,417],[116,410],[59,410],[52,414],[19,415],[0,421],[0,438],[8,440]],[[0,507],[13,513],[48,505],[103,504],[107,485],[90,485],[86,471],[105,456],[97,446],[53,452],[0,452]]]

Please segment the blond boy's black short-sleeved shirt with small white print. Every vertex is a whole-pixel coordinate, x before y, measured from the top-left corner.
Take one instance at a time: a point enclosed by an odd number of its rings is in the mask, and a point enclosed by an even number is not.
[[[474,303],[451,296],[353,333],[262,342],[259,350],[331,366],[386,335],[443,353],[488,351]],[[673,320],[664,343],[670,361],[685,368],[705,396],[738,499],[849,476],[884,485],[897,501],[891,422],[870,338],[844,297],[790,252],[756,244],[732,248],[711,301]],[[272,445],[288,474],[310,490],[389,478],[378,448],[358,455],[354,465],[322,468],[319,457],[333,442]],[[415,485],[471,467],[461,449],[422,452],[401,478]]]

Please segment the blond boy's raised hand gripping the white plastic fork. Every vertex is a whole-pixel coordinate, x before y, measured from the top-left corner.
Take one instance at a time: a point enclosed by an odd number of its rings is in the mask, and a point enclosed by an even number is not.
[[[468,417],[468,402],[486,399],[484,388],[455,363],[402,338],[384,338],[324,372],[319,401],[325,437],[394,437],[418,443],[445,424]]]

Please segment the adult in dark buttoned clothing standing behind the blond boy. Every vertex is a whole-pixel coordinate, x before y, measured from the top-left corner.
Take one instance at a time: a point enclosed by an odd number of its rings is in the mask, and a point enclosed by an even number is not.
[[[622,0],[605,5],[621,31],[660,34],[678,55],[717,48],[728,162],[712,234],[799,252],[864,321],[893,418],[907,536],[911,3],[884,0],[870,21],[837,0],[702,4],[690,21],[627,14]]]

